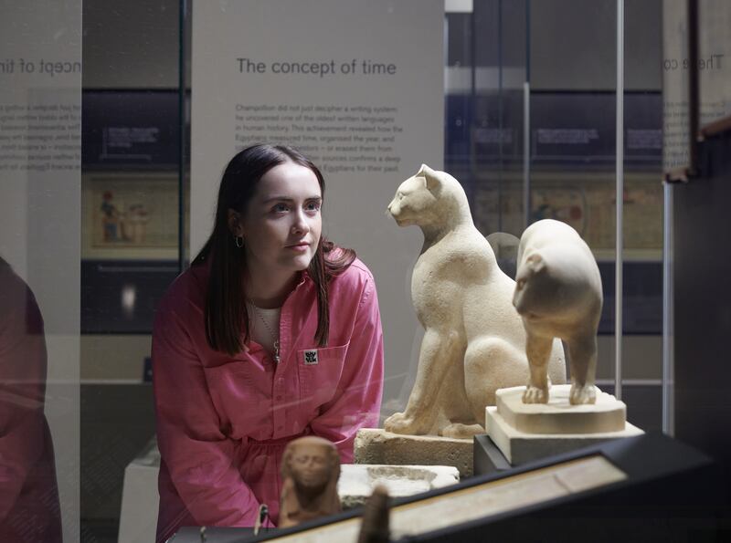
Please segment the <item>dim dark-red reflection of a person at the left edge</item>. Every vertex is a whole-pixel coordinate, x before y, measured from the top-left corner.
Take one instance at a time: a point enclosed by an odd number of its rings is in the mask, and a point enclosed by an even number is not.
[[[61,541],[44,414],[46,339],[33,292],[0,257],[0,541]]]

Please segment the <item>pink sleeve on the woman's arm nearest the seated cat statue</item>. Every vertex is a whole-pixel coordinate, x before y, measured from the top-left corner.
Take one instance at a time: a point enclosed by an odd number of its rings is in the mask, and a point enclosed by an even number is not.
[[[369,277],[334,399],[310,423],[315,435],[337,445],[344,464],[353,462],[355,433],[378,426],[382,392],[383,331],[376,287]]]

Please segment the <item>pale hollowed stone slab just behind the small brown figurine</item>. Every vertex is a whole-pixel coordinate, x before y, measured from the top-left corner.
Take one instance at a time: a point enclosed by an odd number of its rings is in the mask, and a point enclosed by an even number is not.
[[[387,488],[388,496],[413,496],[460,482],[460,472],[451,465],[365,465],[343,464],[337,493],[344,509],[365,504],[376,485]]]

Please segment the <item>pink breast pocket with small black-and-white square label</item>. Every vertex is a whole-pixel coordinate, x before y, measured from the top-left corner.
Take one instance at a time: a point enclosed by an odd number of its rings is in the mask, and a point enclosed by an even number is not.
[[[333,400],[343,374],[347,350],[348,344],[297,351],[302,402],[319,407]]]

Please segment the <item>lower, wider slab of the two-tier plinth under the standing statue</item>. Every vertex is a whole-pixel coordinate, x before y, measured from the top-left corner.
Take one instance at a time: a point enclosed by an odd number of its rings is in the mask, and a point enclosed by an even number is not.
[[[546,456],[568,453],[591,444],[644,433],[630,423],[625,423],[624,429],[619,432],[525,433],[508,424],[497,412],[497,407],[488,406],[485,412],[487,434],[511,465],[521,465]]]

